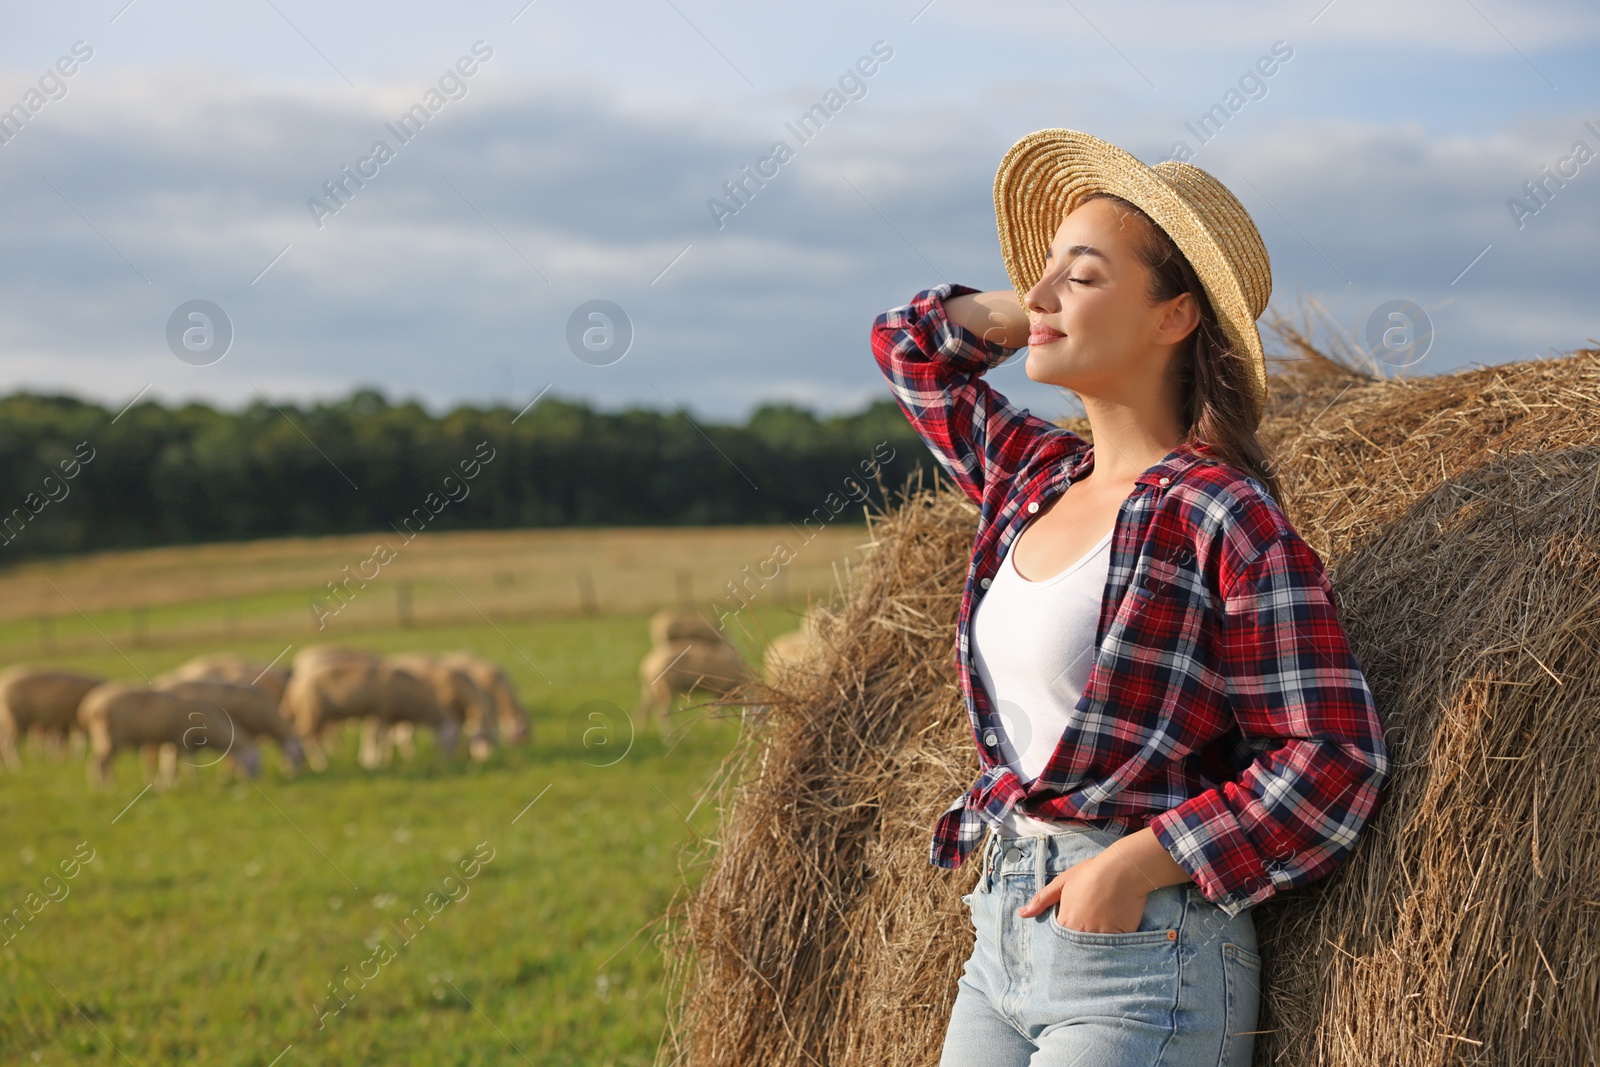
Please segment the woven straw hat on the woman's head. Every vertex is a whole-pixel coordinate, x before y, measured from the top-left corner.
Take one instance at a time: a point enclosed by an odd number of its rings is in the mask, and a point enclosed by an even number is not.
[[[1061,219],[1091,192],[1136,205],[1182,250],[1222,333],[1245,352],[1251,384],[1266,402],[1267,363],[1256,318],[1272,296],[1272,262],[1250,213],[1198,166],[1146,166],[1115,144],[1077,130],[1040,130],[1013,144],[995,173],[995,219],[1018,298],[1045,274],[1045,251]]]

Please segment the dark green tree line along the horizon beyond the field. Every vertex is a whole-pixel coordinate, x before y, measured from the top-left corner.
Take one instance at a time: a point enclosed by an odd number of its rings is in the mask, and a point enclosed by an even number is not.
[[[883,504],[878,480],[893,494],[918,466],[936,472],[893,400],[827,418],[766,405],[733,426],[555,397],[432,414],[360,389],[117,413],[16,394],[0,398],[0,561],[392,530],[418,509],[429,530],[800,523],[838,499],[859,518]]]

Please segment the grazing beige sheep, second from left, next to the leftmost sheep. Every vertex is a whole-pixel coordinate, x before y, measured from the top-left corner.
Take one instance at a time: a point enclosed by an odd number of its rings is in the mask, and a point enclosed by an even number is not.
[[[210,701],[195,701],[166,689],[106,681],[85,694],[78,723],[90,736],[90,784],[110,781],[112,760],[122,749],[160,750],[157,785],[178,781],[178,750],[195,753],[206,765],[234,760],[254,777],[261,752],[227,712]]]

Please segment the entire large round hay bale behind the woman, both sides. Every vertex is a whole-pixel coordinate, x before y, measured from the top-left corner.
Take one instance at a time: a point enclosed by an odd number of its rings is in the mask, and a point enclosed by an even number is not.
[[[1410,381],[1278,378],[1285,510],[1333,573],[1395,773],[1333,875],[1256,910],[1259,1064],[1587,1062],[1600,1045],[1600,350]],[[664,934],[661,1064],[936,1064],[976,864],[952,630],[976,509],[869,523],[826,649],[717,787]]]

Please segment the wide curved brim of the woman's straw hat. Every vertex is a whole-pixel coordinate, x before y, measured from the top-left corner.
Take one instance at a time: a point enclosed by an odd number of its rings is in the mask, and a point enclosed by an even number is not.
[[[995,173],[995,222],[1018,299],[1045,274],[1056,227],[1091,192],[1122,197],[1166,230],[1195,269],[1222,333],[1246,355],[1251,386],[1264,402],[1267,363],[1256,328],[1259,310],[1251,310],[1222,245],[1173,186],[1115,144],[1078,130],[1040,130],[1005,154]],[[1238,213],[1248,218],[1243,206]]]

